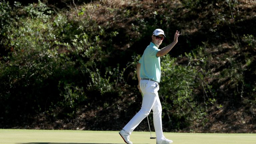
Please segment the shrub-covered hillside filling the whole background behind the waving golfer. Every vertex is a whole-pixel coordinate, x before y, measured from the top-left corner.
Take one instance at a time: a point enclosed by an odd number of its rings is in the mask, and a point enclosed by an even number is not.
[[[164,131],[256,132],[255,0],[1,1],[0,24],[0,128],[120,130],[161,28],[160,47],[181,32],[161,58]]]

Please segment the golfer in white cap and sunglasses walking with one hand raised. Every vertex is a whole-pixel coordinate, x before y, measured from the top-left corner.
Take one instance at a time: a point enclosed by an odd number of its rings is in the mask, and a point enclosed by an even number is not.
[[[156,29],[153,32],[152,41],[145,49],[141,59],[137,63],[138,89],[143,94],[140,111],[119,132],[124,142],[132,144],[130,134],[140,122],[153,110],[153,121],[156,132],[156,144],[170,144],[173,141],[164,137],[162,130],[162,106],[158,96],[159,82],[161,78],[160,57],[166,55],[178,42],[179,32],[176,31],[174,41],[168,46],[158,49],[165,38],[164,31]]]

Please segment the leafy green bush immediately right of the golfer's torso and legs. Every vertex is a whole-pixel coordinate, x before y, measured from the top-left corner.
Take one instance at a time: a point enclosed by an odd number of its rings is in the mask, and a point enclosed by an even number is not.
[[[169,122],[179,121],[172,128],[182,129],[192,121],[206,122],[206,107],[215,104],[212,87],[205,81],[209,74],[202,69],[204,61],[186,55],[188,65],[179,65],[176,58],[165,56],[161,63],[162,76],[159,94],[162,96],[164,115]],[[202,90],[199,96],[197,89]],[[200,94],[201,95],[201,94]]]

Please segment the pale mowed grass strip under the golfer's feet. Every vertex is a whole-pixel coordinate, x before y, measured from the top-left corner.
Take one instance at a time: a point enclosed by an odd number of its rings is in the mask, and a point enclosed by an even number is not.
[[[155,137],[155,133],[152,133]],[[256,134],[164,133],[173,144],[256,144]],[[155,144],[149,132],[134,131],[134,144]],[[118,131],[0,129],[0,144],[124,144]]]

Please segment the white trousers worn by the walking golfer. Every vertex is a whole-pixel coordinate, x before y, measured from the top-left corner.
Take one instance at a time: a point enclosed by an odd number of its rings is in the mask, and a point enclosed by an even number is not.
[[[146,87],[142,87],[146,83]],[[162,106],[158,96],[159,85],[149,80],[140,81],[140,89],[143,93],[143,100],[140,111],[125,125],[123,130],[131,134],[140,122],[153,110],[153,122],[156,132],[156,141],[164,139],[162,130]]]

